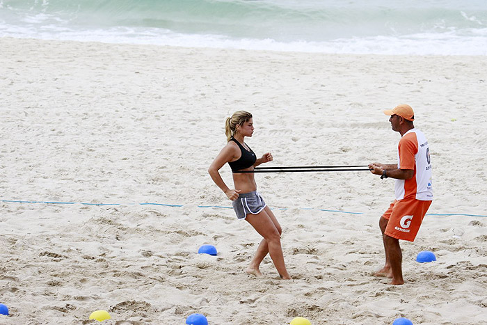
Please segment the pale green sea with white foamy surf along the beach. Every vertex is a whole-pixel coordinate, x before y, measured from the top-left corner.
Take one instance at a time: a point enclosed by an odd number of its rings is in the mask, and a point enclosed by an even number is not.
[[[485,1],[0,0],[0,36],[324,53],[487,52]]]

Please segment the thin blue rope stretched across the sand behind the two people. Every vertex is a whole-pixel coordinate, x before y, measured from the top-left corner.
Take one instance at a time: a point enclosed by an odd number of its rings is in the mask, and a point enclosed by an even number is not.
[[[52,205],[74,205],[74,204],[81,204],[81,205],[159,205],[161,207],[183,207],[184,205],[175,205],[175,204],[164,204],[164,203],[81,203],[81,202],[53,202],[53,201],[27,201],[27,200],[0,200],[3,203],[43,203],[43,204],[52,204]],[[233,209],[232,207],[223,207],[221,205],[198,205],[198,207],[214,207],[217,209]],[[272,209],[272,208],[271,208]],[[276,207],[274,209],[278,210],[288,210],[292,209],[289,207]],[[297,209],[301,210],[314,210],[313,207],[298,207]],[[364,212],[349,212],[349,211],[341,211],[341,210],[330,210],[330,209],[317,209],[319,211],[324,212],[338,212],[344,214],[364,214]],[[484,214],[463,214],[463,213],[449,213],[449,214],[434,214],[428,213],[426,216],[484,216]]]

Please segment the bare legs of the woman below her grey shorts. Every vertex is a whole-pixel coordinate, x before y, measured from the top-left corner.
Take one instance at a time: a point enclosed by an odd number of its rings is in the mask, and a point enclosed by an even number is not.
[[[250,223],[262,237],[264,237],[257,247],[257,252],[255,253],[252,262],[250,262],[247,272],[255,274],[256,276],[261,276],[262,274],[259,271],[259,265],[269,252],[280,277],[283,279],[290,279],[291,277],[287,273],[280,245],[280,234],[282,230],[276,216],[271,212],[271,209],[265,207],[259,214],[247,214],[246,221]]]

